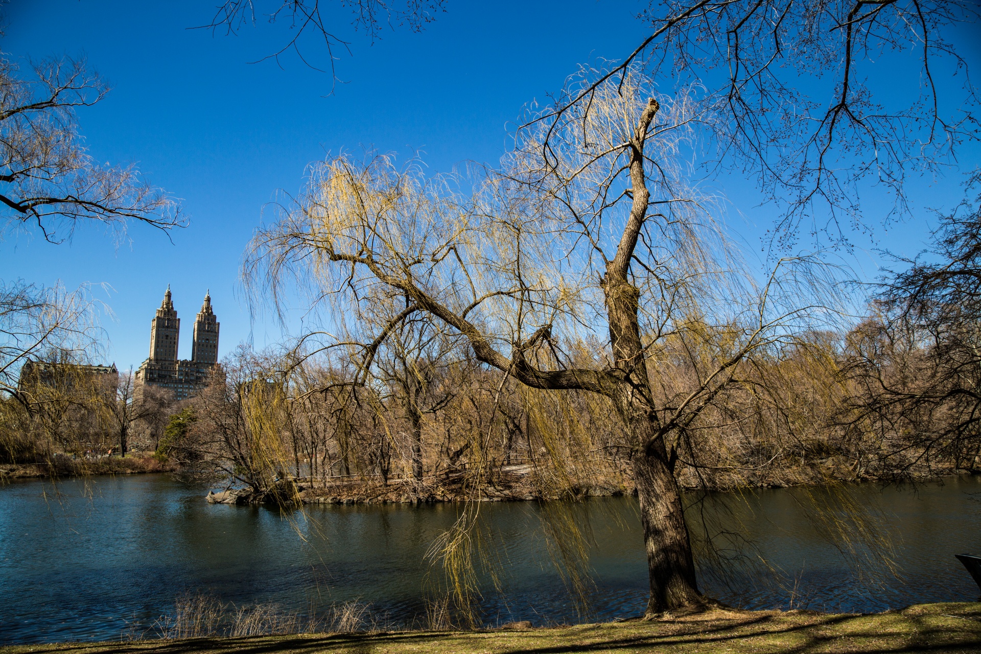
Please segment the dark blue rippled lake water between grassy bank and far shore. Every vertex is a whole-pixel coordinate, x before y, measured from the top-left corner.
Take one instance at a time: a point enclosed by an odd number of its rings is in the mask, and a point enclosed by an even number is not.
[[[981,553],[981,477],[915,490],[848,487],[852,500],[882,513],[901,578],[881,567],[856,573],[807,520],[803,492],[713,496],[728,505],[728,524],[749,537],[749,557],[762,556],[777,574],[744,567],[726,584],[702,565],[703,590],[745,608],[850,612],[978,597],[953,555]],[[283,514],[210,505],[205,493],[162,475],[0,486],[0,644],[118,638],[130,625],[148,628],[173,611],[176,597],[198,591],[285,611],[323,612],[359,600],[387,623],[411,624],[425,614],[424,585],[439,579],[427,577],[426,551],[461,510],[325,505]],[[551,563],[541,507],[483,504],[504,590],[483,581],[484,620],[545,625],[642,613],[647,580],[635,507],[630,497],[572,507],[593,543],[592,603],[583,614]]]

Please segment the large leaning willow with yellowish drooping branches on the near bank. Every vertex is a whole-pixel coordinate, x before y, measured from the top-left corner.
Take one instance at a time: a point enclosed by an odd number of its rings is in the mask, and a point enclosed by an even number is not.
[[[544,109],[500,170],[470,180],[472,193],[386,156],[329,159],[256,234],[244,275],[278,303],[292,280],[315,304],[333,301],[366,367],[422,315],[543,397],[608,402],[640,498],[647,614],[658,615],[712,603],[675,477],[683,449],[698,447],[691,427],[752,383],[748,363],[772,359],[826,311],[807,301],[815,277],[799,259],[757,283],[726,242],[717,198],[688,183],[716,128],[699,89],[666,95],[643,75],[594,85],[598,76],[583,71],[558,98],[592,87],[588,111]],[[407,299],[381,326],[368,319],[378,288]],[[575,342],[602,345],[584,360],[563,348]],[[679,364],[687,376],[662,375]]]

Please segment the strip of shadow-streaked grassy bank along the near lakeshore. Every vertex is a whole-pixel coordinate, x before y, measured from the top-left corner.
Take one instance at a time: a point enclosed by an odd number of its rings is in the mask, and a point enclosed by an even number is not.
[[[133,642],[60,643],[2,647],[2,654],[402,654],[408,652],[981,652],[981,602],[920,604],[873,615],[806,611],[711,611],[651,622],[550,629],[402,631],[194,638]]]

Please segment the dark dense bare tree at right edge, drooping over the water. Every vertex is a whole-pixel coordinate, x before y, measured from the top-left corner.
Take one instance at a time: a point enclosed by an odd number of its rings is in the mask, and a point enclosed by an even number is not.
[[[973,190],[981,183],[974,172]],[[981,197],[940,217],[932,247],[883,279],[850,334],[840,420],[883,477],[981,469]]]

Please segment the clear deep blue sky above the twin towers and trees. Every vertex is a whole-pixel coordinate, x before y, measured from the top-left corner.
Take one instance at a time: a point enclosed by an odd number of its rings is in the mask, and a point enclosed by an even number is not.
[[[352,54],[337,62],[346,83],[329,95],[331,77],[293,57],[282,68],[248,63],[282,45],[282,27],[258,25],[236,36],[187,29],[207,23],[214,4],[12,0],[7,10],[0,47],[8,56],[84,53],[111,81],[109,97],[79,114],[90,153],[136,162],[181,198],[190,218],[173,243],[142,226],[118,248],[94,226],[63,245],[23,236],[0,242],[0,278],[61,279],[70,287],[105,282],[115,289],[103,295],[116,314],[104,326],[109,359],[121,368],[147,356],[150,319],[168,283],[184,325],[181,358],[190,357],[193,317],[207,288],[222,323],[220,354],[244,339],[260,347],[280,339],[271,321],[250,323],[238,264],[264,205],[278,189],[297,191],[310,162],[362,145],[422,150],[435,171],[466,160],[494,162],[506,144],[506,123],[523,105],[559,88],[579,63],[623,57],[646,32],[634,18],[645,2],[450,0],[422,33],[387,30],[371,43],[338,25],[350,36]],[[968,168],[976,162],[961,161]],[[957,181],[923,184],[914,199],[953,201]],[[924,223],[914,223],[876,244],[919,249]],[[741,229],[757,242],[766,226]]]

